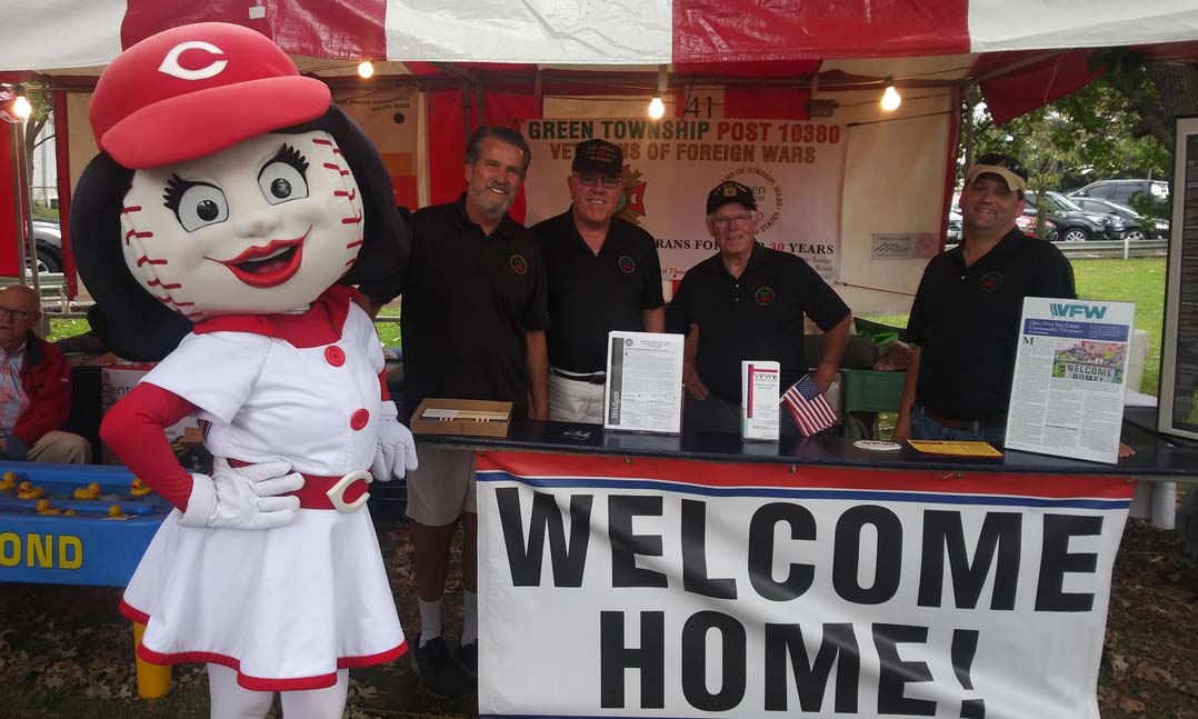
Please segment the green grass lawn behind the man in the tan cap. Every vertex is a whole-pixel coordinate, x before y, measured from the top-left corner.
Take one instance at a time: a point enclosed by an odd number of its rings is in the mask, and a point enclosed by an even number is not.
[[[1139,391],[1156,397],[1161,380],[1161,327],[1164,318],[1164,258],[1073,260],[1077,294],[1083,300],[1136,303],[1136,328],[1148,332],[1148,357]],[[869,318],[906,327],[907,315]]]

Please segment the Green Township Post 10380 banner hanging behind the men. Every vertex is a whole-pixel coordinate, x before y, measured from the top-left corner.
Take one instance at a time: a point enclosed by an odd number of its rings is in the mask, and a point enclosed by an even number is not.
[[[707,193],[724,180],[754,189],[757,238],[805,259],[824,279],[840,276],[843,126],[807,120],[530,120],[527,224],[570,207],[574,146],[599,138],[624,151],[617,213],[658,241],[661,273],[682,279],[718,248],[707,231]]]

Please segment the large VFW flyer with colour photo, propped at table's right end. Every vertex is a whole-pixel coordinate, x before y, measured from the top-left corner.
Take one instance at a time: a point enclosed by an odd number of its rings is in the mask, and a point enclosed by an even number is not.
[[[1023,301],[1009,449],[1119,461],[1135,320],[1130,302]]]

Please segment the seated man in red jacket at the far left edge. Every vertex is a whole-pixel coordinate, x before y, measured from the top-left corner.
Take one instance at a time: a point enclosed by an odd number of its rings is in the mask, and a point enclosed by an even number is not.
[[[34,334],[41,316],[41,300],[30,288],[0,291],[0,457],[86,464],[87,440],[61,431],[71,413],[71,365]]]

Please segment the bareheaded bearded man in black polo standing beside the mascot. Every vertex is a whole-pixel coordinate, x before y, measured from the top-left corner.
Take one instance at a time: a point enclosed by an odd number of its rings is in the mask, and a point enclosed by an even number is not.
[[[537,240],[508,217],[531,161],[506,127],[482,127],[466,146],[466,192],[412,215],[412,258],[403,283],[404,404],[426,397],[510,401],[514,413],[547,416],[545,267]],[[370,297],[386,294],[363,289]],[[531,404],[530,404],[531,403]],[[478,514],[470,452],[420,447],[407,476],[416,545],[420,636],[413,652],[425,689],[471,690],[478,667]],[[460,664],[441,638],[441,597],[459,519],[465,526],[465,626]]]

